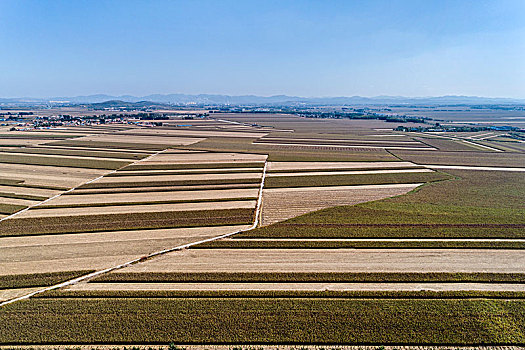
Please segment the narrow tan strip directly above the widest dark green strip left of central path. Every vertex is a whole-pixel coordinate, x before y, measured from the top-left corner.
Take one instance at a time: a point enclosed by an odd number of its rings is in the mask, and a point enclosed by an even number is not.
[[[31,209],[18,218],[37,217],[59,217],[77,215],[100,215],[100,214],[122,214],[122,213],[159,213],[173,211],[192,210],[217,210],[255,208],[255,200],[249,201],[221,201],[221,202],[196,202],[196,203],[174,203],[174,204],[148,204],[148,205],[122,205],[109,207],[78,207],[78,208],[53,208],[53,209]]]

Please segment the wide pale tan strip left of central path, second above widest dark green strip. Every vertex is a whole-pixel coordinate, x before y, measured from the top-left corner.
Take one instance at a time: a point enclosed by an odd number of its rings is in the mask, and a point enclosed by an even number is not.
[[[0,186],[1,188],[1,186]],[[138,193],[111,193],[111,194],[67,194],[53,199],[46,205],[72,205],[92,203],[122,203],[147,202],[168,200],[201,200],[220,198],[253,198],[257,197],[257,188],[224,189],[204,191],[173,191],[173,192],[138,192]]]

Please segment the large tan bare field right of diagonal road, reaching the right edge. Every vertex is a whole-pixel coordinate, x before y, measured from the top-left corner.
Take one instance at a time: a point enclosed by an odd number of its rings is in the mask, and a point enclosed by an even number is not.
[[[188,249],[122,272],[523,272],[523,250]]]

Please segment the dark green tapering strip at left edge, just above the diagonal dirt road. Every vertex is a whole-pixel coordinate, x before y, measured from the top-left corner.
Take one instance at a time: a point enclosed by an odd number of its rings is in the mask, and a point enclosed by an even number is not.
[[[73,279],[75,277],[86,275],[93,271],[94,270],[80,270],[31,273],[23,275],[4,275],[0,276],[0,289],[47,287]]]

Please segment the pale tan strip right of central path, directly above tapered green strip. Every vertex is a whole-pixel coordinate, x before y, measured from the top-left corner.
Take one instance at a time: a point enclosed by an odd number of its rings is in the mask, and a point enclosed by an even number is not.
[[[417,167],[412,162],[268,162],[268,171],[316,169],[388,169]]]

